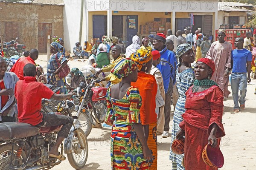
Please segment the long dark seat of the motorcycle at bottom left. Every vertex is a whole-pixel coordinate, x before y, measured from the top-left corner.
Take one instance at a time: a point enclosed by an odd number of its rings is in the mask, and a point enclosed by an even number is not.
[[[9,142],[12,139],[22,139],[35,136],[39,133],[40,128],[21,122],[0,123],[0,140]]]

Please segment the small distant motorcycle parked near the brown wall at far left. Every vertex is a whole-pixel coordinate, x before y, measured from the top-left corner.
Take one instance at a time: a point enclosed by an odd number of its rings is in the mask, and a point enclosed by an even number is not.
[[[8,48],[7,54],[9,55],[9,57],[12,57],[13,55],[21,56],[21,53],[25,52],[26,45],[19,44],[17,42],[18,38],[19,37],[17,37],[15,40],[12,40],[8,43],[9,48]]]

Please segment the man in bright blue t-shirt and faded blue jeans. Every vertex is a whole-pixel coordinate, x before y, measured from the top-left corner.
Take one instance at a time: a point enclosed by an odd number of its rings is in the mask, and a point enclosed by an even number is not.
[[[240,109],[245,108],[245,96],[247,82],[250,82],[250,71],[252,54],[249,50],[243,48],[244,39],[242,37],[236,38],[234,49],[231,53],[231,64],[233,65],[231,74],[231,89],[234,100],[234,112],[239,113]],[[246,78],[247,73],[247,78]],[[241,97],[238,96],[238,91],[240,90]],[[240,107],[239,104],[240,103]]]

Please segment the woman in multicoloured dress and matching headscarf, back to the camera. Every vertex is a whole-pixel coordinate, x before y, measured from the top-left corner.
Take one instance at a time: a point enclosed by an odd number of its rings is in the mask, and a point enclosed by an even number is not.
[[[122,78],[107,91],[108,111],[105,123],[113,125],[111,132],[112,170],[148,170],[152,158],[140,120],[142,105],[139,90],[131,86],[137,80],[137,65],[131,59],[122,59],[112,70]]]

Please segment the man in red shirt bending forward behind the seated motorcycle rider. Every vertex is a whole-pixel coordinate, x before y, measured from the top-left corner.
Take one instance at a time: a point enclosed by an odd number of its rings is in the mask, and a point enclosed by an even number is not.
[[[17,77],[20,80],[23,80],[23,67],[26,64],[34,64],[35,65],[35,60],[38,59],[38,50],[37,49],[32,49],[29,52],[30,56],[29,57],[20,57],[17,62],[12,66],[12,69],[10,70],[11,72],[14,72]]]

